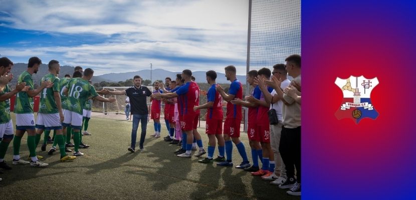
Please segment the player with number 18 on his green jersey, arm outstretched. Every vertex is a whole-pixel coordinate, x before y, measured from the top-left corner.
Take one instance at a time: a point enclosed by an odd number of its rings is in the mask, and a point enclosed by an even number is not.
[[[65,111],[65,118],[62,125],[69,126],[71,124],[74,131],[74,143],[75,143],[75,156],[83,155],[84,153],[79,151],[80,145],[80,130],[82,125],[82,108],[85,105],[89,96],[104,101],[114,102],[114,97],[104,98],[98,95],[94,86],[88,83],[88,80],[94,75],[94,70],[86,68],[82,78],[72,78],[64,88],[64,94],[66,94],[68,111]]]

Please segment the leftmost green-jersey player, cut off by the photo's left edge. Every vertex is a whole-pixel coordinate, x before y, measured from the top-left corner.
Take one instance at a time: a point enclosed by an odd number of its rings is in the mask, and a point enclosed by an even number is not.
[[[18,83],[14,90],[10,90],[10,87],[7,84],[13,78],[13,74],[10,73],[12,67],[13,62],[9,58],[0,58],[0,138],[3,138],[0,141],[0,168],[4,169],[12,168],[4,160],[7,148],[9,147],[9,144],[14,137],[13,122],[10,117],[9,98],[14,96],[22,89],[27,90],[29,88],[25,86],[25,82],[22,82]]]

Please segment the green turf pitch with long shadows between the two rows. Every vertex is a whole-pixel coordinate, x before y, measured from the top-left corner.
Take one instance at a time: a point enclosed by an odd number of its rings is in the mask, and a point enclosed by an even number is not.
[[[14,114],[12,118],[15,121]],[[153,133],[153,123],[148,123],[147,130],[147,135]],[[206,149],[207,137],[202,128],[198,130]],[[40,151],[40,144],[37,152],[49,163],[45,168],[12,165],[12,142],[5,159],[13,169],[0,174],[3,178],[0,198],[300,199],[244,170],[198,163],[195,156],[190,159],[177,157],[172,152],[178,146],[168,144],[163,138],[148,136],[144,142],[145,151],[130,153],[127,147],[130,145],[131,121],[93,117],[89,132],[92,135],[83,136],[83,140],[91,147],[81,149],[85,155],[74,161],[60,162],[59,152],[50,156],[47,151]],[[24,158],[29,155],[26,135],[21,145]],[[166,127],[162,124],[162,137],[165,135]],[[246,133],[242,133],[241,139],[250,157]],[[48,144],[47,150],[50,147]],[[235,165],[242,161],[235,146],[233,159]]]

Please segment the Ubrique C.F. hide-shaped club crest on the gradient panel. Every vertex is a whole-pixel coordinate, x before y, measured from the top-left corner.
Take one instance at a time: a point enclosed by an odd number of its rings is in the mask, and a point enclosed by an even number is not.
[[[372,89],[378,84],[377,77],[372,79],[364,76],[350,76],[347,79],[337,77],[335,84],[341,88],[344,95],[341,106],[335,112],[338,119],[351,118],[358,123],[366,117],[377,118],[378,112],[370,99]]]

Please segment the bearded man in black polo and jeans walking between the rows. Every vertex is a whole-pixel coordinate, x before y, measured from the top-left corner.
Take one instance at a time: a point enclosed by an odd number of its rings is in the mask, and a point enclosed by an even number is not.
[[[134,86],[127,88],[124,91],[110,91],[112,94],[122,95],[125,94],[130,98],[130,112],[133,114],[133,128],[131,129],[131,146],[128,148],[129,151],[136,151],[136,135],[139,122],[141,120],[141,135],[140,135],[140,150],[144,150],[143,142],[146,135],[147,127],[147,104],[146,97],[150,96],[152,92],[149,88],[144,85],[141,85],[141,77],[135,75],[133,77]]]

